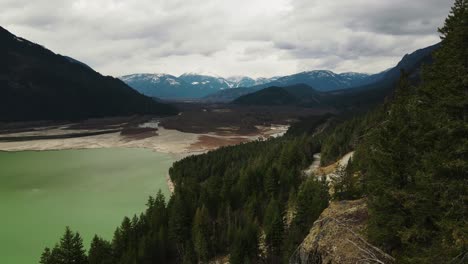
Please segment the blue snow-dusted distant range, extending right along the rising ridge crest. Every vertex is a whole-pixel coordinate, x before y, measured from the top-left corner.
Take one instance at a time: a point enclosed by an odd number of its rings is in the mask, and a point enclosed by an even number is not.
[[[431,49],[431,47],[429,47]],[[423,49],[423,53],[424,53]],[[195,73],[179,77],[169,74],[131,74],[120,77],[138,92],[164,99],[202,99],[212,102],[229,102],[235,98],[267,87],[286,87],[305,84],[316,91],[329,92],[363,87],[383,79],[394,81],[399,69],[412,68],[418,51],[406,55],[394,68],[377,74],[356,72],[334,73],[327,70],[305,71],[293,75],[253,79],[246,76],[223,78]]]

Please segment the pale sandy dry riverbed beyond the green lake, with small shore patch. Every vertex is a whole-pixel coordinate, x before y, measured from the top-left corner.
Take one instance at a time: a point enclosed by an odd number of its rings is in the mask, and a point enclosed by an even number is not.
[[[247,134],[236,133],[236,127],[221,127],[211,133],[189,133],[165,129],[157,119],[143,119],[130,125],[128,120],[113,120],[105,125],[100,120],[92,120],[15,129],[0,131],[0,151],[146,148],[171,154],[179,160],[222,146],[281,136],[288,126],[256,126],[256,132]],[[174,184],[169,175],[166,178],[173,192]]]

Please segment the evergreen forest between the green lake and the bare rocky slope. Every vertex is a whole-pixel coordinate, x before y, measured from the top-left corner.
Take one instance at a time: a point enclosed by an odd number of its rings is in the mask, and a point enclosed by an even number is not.
[[[284,249],[298,246],[329,199],[326,185],[304,181],[302,170],[319,144],[313,136],[299,134],[223,147],[174,163],[175,193],[169,202],[159,192],[148,199],[142,215],[123,219],[112,243],[96,237],[90,263],[195,263],[219,255],[229,255],[231,263],[289,258],[291,252]],[[297,199],[295,190],[300,190]],[[296,200],[297,208],[290,208]],[[294,226],[285,223],[287,210],[298,212]]]

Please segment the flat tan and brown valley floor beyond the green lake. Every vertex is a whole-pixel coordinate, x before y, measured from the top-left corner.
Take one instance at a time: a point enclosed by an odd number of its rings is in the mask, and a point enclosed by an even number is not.
[[[154,121],[156,122],[156,121]],[[144,123],[149,124],[150,122]],[[34,130],[0,135],[0,150],[61,150],[90,148],[148,148],[176,156],[203,153],[221,146],[248,142],[259,138],[278,136],[285,133],[287,125],[258,126],[257,132],[248,135],[236,133],[189,133],[175,129],[159,127],[127,134],[124,129],[111,130],[102,128],[74,129],[76,124],[59,127],[36,127]],[[156,125],[156,123],[154,124]],[[97,133],[94,135],[87,134]],[[80,136],[80,134],[84,134]],[[66,137],[66,135],[74,135]]]

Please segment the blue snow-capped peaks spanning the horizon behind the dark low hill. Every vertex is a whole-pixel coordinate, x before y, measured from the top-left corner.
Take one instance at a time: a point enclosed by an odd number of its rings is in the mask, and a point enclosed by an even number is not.
[[[332,91],[364,85],[375,81],[373,75],[331,71],[307,71],[283,77],[251,78],[247,76],[220,76],[184,73],[179,77],[169,74],[131,74],[120,77],[122,81],[142,94],[165,99],[202,98],[231,88],[307,84],[319,91]]]

